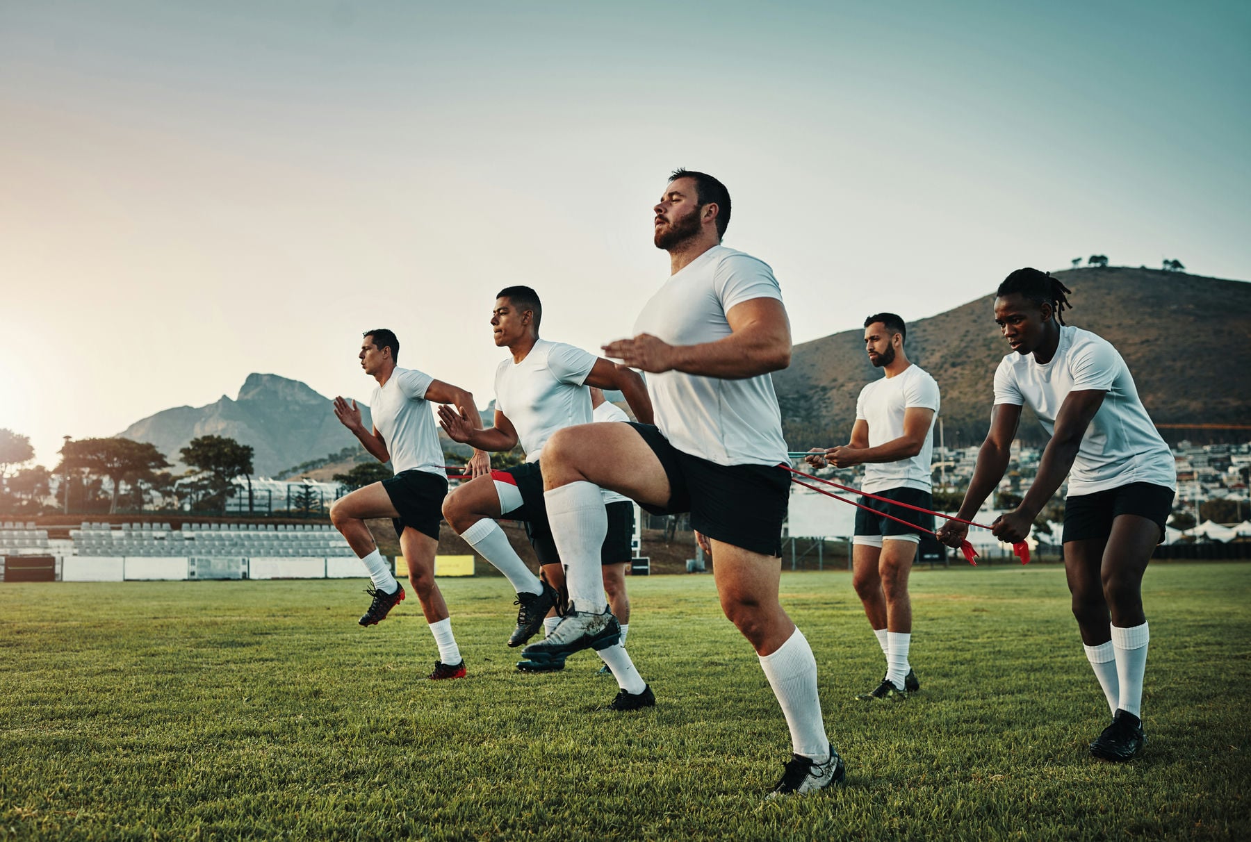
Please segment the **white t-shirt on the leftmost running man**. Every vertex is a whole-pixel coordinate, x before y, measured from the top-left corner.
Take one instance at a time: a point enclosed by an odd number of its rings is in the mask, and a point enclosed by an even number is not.
[[[429,374],[410,368],[395,368],[387,383],[374,387],[369,403],[374,429],[387,442],[392,469],[425,470],[447,477],[443,469],[443,447],[434,413],[425,400],[425,390],[434,382]]]

